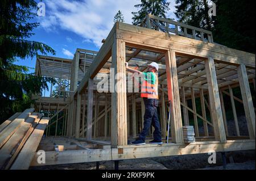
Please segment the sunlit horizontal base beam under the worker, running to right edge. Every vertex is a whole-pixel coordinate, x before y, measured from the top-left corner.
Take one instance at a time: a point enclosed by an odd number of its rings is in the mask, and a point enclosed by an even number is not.
[[[150,144],[138,145],[136,147],[134,145],[127,145],[127,147],[120,146],[118,148],[123,148],[123,153],[118,154],[118,149],[112,149],[113,160],[209,153],[212,150],[216,152],[247,150],[254,149],[255,142],[253,140],[228,140],[223,143],[219,141],[200,141],[190,144],[169,143],[158,146]]]

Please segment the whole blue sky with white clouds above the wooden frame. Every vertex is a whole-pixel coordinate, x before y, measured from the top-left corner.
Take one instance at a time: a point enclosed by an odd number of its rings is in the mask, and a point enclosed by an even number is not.
[[[38,1],[39,2],[39,1]],[[122,11],[125,23],[131,24],[134,5],[139,0],[43,0],[46,5],[46,16],[38,16],[34,22],[40,26],[35,28],[35,35],[29,40],[39,41],[52,47],[56,57],[73,58],[76,48],[99,50],[101,40],[108,36],[113,27],[114,15]],[[175,18],[174,1],[171,1],[167,18]],[[52,56],[52,54],[47,54]],[[35,68],[35,57],[16,62]],[[30,72],[34,72],[33,69]]]

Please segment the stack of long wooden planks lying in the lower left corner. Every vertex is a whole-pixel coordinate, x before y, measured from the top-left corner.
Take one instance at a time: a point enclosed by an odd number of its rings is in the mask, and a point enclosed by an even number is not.
[[[49,117],[34,108],[17,112],[0,125],[0,169],[28,169]]]

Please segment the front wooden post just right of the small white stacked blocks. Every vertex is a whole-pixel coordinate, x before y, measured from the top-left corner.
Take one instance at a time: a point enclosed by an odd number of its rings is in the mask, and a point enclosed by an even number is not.
[[[217,76],[212,57],[208,57],[205,62],[205,70],[207,72],[207,82],[209,89],[209,104],[212,112],[212,123],[214,125],[214,136],[217,141],[225,142],[226,134],[221,111],[220,96],[218,94]]]

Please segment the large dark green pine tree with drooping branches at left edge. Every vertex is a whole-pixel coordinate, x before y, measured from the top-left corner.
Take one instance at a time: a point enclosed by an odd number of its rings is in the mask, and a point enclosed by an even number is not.
[[[14,112],[30,107],[31,95],[42,94],[43,89],[48,89],[47,82],[55,83],[52,78],[28,74],[27,66],[14,64],[38,52],[55,54],[46,44],[27,40],[34,35],[31,31],[39,26],[31,22],[36,10],[37,3],[32,0],[0,2],[0,123]]]

